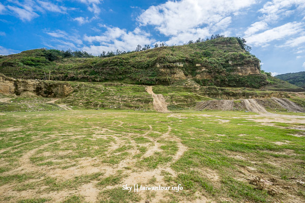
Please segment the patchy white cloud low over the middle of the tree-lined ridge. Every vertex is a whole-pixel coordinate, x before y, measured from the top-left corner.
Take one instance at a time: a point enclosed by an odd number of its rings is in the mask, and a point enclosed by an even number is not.
[[[133,31],[126,31],[118,27],[106,27],[107,30],[100,36],[84,36],[84,41],[89,43],[99,43],[99,45],[89,45],[82,49],[93,55],[99,55],[102,51],[130,51],[135,50],[138,44],[151,45],[155,40],[150,39],[149,33],[136,28]]]

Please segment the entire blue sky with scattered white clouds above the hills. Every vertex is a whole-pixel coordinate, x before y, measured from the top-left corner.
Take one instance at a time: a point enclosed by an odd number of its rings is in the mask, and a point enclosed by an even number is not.
[[[305,71],[305,0],[1,0],[0,55],[134,50],[219,33],[245,38],[271,73]]]

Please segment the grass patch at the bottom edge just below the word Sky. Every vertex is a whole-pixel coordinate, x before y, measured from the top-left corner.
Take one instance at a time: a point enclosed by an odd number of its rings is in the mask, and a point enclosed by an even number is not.
[[[122,190],[121,187],[117,187],[102,191],[100,199],[101,203],[128,203],[140,201],[141,197],[135,192],[128,192],[127,190]]]

